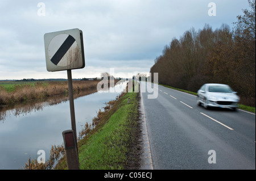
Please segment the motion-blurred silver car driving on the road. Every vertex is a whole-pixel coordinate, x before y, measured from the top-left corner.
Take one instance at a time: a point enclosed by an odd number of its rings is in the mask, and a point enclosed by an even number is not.
[[[237,92],[220,83],[206,83],[197,91],[196,103],[208,107],[233,108],[236,110],[240,102]]]

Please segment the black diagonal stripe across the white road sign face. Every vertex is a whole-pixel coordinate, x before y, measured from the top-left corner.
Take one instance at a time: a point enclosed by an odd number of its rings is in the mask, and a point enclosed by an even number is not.
[[[57,65],[75,41],[76,40],[73,38],[73,36],[69,35],[64,43],[57,50],[57,52],[54,54],[54,56],[51,58],[52,63]]]

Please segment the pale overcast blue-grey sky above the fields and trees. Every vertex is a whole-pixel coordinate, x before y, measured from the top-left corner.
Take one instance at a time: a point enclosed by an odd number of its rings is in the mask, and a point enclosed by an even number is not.
[[[210,2],[216,16],[208,14]],[[46,70],[44,34],[73,28],[82,30],[85,52],[85,68],[72,70],[73,78],[110,68],[116,76],[146,73],[174,37],[205,24],[232,28],[242,9],[247,0],[0,0],[0,79],[67,78],[65,70]]]

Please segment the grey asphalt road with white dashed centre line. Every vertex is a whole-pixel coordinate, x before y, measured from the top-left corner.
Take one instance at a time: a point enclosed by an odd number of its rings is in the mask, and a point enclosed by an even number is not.
[[[197,106],[196,96],[142,91],[154,169],[255,169],[255,114]]]

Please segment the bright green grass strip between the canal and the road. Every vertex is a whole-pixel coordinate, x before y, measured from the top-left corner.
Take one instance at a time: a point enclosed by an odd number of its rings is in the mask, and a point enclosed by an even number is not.
[[[137,125],[137,93],[127,93],[118,104],[108,122],[80,147],[80,169],[125,169]]]

